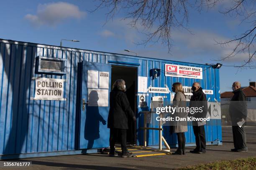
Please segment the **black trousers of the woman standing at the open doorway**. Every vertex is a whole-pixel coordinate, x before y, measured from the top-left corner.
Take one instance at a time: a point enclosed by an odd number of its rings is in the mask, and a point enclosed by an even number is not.
[[[117,128],[110,128],[110,137],[109,137],[109,143],[110,143],[110,153],[114,153],[115,151],[115,142],[117,138],[120,138],[121,142],[121,148],[122,152],[126,153],[126,129],[117,129]]]

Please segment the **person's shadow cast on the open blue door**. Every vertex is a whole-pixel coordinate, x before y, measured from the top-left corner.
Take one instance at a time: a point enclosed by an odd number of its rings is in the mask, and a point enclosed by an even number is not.
[[[106,120],[100,115],[97,101],[99,100],[96,90],[92,90],[88,97],[89,105],[86,105],[86,118],[84,125],[84,139],[88,140],[87,149],[93,148],[94,140],[100,138],[100,122],[106,125]]]

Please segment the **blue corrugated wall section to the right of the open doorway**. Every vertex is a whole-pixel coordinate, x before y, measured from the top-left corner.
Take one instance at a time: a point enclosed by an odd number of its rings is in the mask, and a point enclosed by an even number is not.
[[[213,69],[207,65],[199,65],[199,64],[191,64],[184,62],[175,62],[175,61],[155,61],[152,60],[140,60],[139,67],[139,76],[149,77],[149,70],[152,68],[160,68],[164,70],[164,66],[166,63],[178,64],[178,65],[187,65],[192,67],[202,67],[203,79],[191,79],[191,78],[181,78],[181,77],[169,77],[165,76],[164,72],[161,72],[159,78],[151,80],[148,78],[148,86],[152,87],[166,87],[166,85],[171,88],[174,82],[181,82],[183,86],[192,86],[194,82],[200,82],[201,87],[207,90],[213,90],[213,95],[206,95],[207,100],[209,102],[215,102],[216,100],[220,102],[220,79],[219,79],[219,70]],[[149,93],[146,96],[146,102],[150,103],[151,97],[153,96],[165,96],[164,99],[166,103],[170,103],[171,93],[169,94],[160,94],[160,93]],[[138,99],[139,100],[139,99]],[[143,108],[139,108],[139,111],[143,110]],[[143,126],[143,115],[139,115],[138,126]],[[195,135],[193,133],[192,122],[188,124],[188,132],[185,133],[186,143],[195,143]],[[153,127],[150,125],[149,127]],[[137,127],[139,128],[139,127]],[[157,125],[154,128],[158,128]],[[169,126],[163,126],[164,132],[163,136],[169,144],[177,144],[177,135],[174,133],[172,135],[169,134]],[[221,120],[210,120],[205,126],[206,133],[206,141],[221,141]],[[148,145],[158,145],[159,144],[159,133],[157,130],[147,130],[147,139]],[[218,142],[217,142],[218,143]],[[142,130],[138,132],[138,145],[143,145],[143,132]]]

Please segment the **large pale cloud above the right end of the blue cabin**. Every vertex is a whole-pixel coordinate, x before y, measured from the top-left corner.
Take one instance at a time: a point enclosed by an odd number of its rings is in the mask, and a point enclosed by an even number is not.
[[[193,34],[186,31],[174,31],[172,38],[175,45],[183,46],[179,51],[175,51],[175,53],[179,53],[182,56],[187,54],[187,57],[189,55],[199,55],[209,60],[220,60],[228,56],[236,47],[237,43],[230,42],[225,46],[221,46],[217,42],[225,42],[230,40],[230,37],[224,37],[205,30],[195,30]],[[226,59],[225,62],[243,62],[244,60],[248,60],[247,52],[238,53],[235,57]]]

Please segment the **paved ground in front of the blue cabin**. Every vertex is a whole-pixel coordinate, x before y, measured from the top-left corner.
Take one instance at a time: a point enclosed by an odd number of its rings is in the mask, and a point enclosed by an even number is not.
[[[32,161],[32,167],[27,170],[169,170],[215,160],[233,160],[256,157],[256,127],[246,127],[248,152],[233,153],[233,138],[231,127],[223,127],[223,145],[207,146],[206,154],[186,155],[157,155],[139,158],[113,158],[103,154],[69,155],[45,158],[27,158],[21,160]],[[187,151],[193,147],[187,147]],[[174,151],[175,149],[172,149]],[[12,169],[12,168],[2,168]]]

